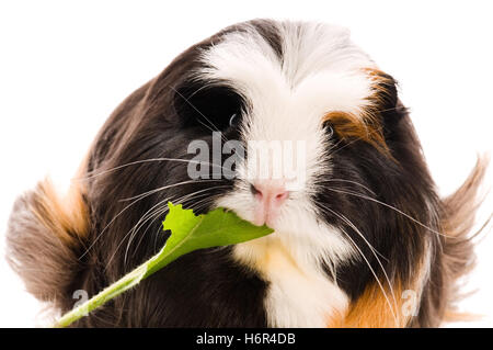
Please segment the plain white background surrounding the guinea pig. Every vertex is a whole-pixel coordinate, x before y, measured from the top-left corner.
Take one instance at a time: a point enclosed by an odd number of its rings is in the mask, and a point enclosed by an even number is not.
[[[37,325],[38,303],[3,259],[12,202],[45,174],[66,184],[131,91],[190,45],[253,18],[319,20],[400,81],[442,194],[492,149],[490,1],[2,1],[0,4],[0,326]],[[491,187],[491,171],[489,184]],[[492,212],[490,195],[480,213]],[[493,233],[492,233],[493,234]],[[493,325],[493,237],[478,246],[461,309]],[[39,319],[39,318],[37,318]],[[457,324],[456,324],[457,325]]]

